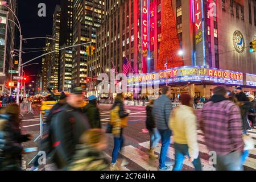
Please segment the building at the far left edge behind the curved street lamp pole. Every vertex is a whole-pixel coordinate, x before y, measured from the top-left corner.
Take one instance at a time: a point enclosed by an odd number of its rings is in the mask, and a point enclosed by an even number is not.
[[[7,1],[7,6],[16,14],[16,0]],[[0,93],[9,93],[7,84],[13,80],[15,73],[9,73],[14,68],[13,51],[15,44],[16,18],[9,9],[0,6]],[[17,74],[16,74],[17,75]]]

